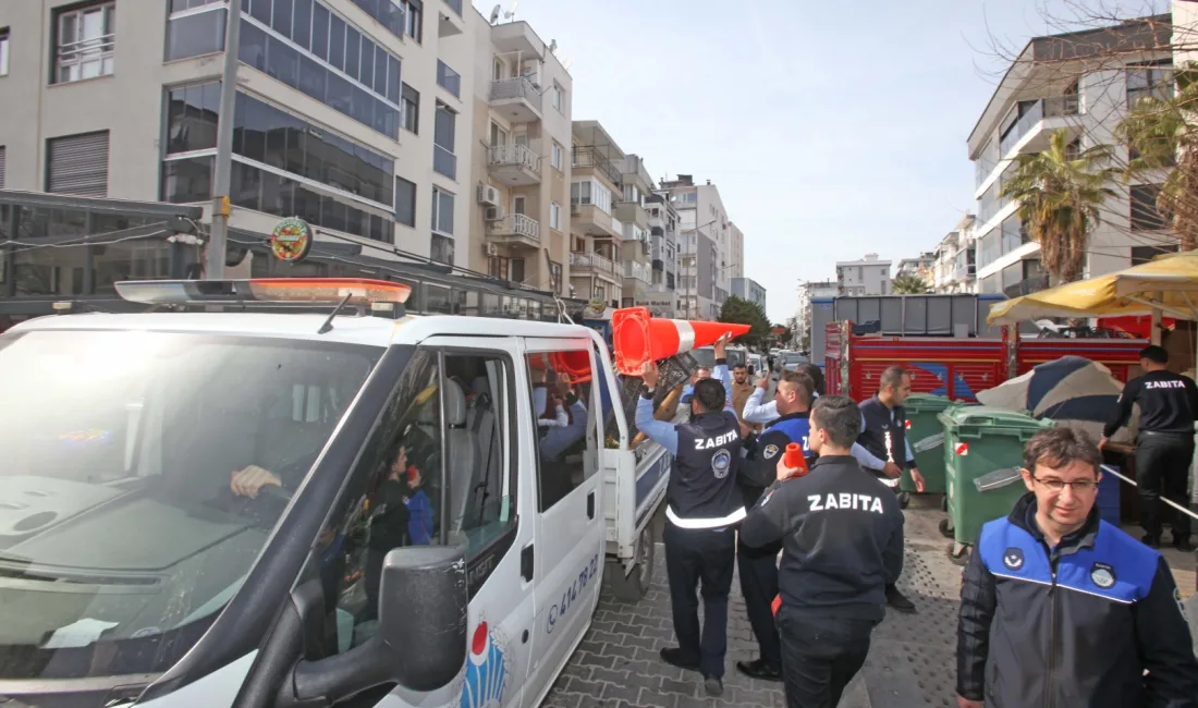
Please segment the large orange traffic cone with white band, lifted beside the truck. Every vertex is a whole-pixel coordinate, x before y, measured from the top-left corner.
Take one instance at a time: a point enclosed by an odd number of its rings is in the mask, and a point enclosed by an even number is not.
[[[648,308],[623,308],[611,314],[611,341],[616,370],[640,376],[645,362],[657,362],[676,353],[715,344],[725,333],[740,337],[749,325],[665,320],[649,315]]]

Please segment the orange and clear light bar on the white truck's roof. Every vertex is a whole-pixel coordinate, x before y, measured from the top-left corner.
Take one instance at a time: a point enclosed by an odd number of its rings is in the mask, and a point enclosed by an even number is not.
[[[129,302],[187,304],[271,302],[337,304],[404,304],[412,289],[403,283],[368,278],[252,278],[248,280],[125,280],[116,292]]]

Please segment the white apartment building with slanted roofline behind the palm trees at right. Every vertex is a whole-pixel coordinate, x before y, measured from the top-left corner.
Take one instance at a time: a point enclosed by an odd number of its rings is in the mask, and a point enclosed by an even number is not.
[[[1043,151],[1055,131],[1066,131],[1071,150],[1115,143],[1115,128],[1143,96],[1172,92],[1169,16],[1117,26],[1035,37],[1008,69],[969,134],[976,205],[976,278],[982,294],[1025,295],[1048,286],[1040,244],[1031,242],[1018,205],[1002,196],[1004,180],[1021,155]],[[1061,61],[1069,56],[1069,61]],[[1127,150],[1114,146],[1115,164]],[[1156,253],[1167,238],[1156,210],[1164,175],[1129,186],[1115,195],[1091,231],[1084,277],[1130,266]]]

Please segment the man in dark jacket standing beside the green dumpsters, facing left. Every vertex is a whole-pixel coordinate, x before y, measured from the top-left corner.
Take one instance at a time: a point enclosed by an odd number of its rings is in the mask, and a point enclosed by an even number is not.
[[[915,467],[915,454],[907,443],[907,411],[902,407],[910,395],[910,374],[902,367],[889,367],[882,373],[878,393],[861,401],[861,435],[858,443],[866,455],[855,455],[863,467],[873,472],[897,494],[902,468],[910,470],[915,489],[924,491],[924,477]],[[900,612],[915,612],[912,603],[898,592],[897,577],[887,581],[887,604]]]

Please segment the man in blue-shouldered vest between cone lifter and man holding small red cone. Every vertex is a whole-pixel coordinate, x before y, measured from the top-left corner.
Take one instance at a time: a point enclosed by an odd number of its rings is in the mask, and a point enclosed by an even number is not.
[[[807,438],[811,435],[811,397],[815,382],[805,374],[782,371],[774,393],[774,405],[779,413],[766,430],[757,436],[751,459],[744,464],[740,474],[740,491],[745,508],[754,508],[757,500],[778,480],[778,461],[792,442],[803,447],[803,454],[811,456]],[[770,603],[778,597],[778,553],[782,540],[761,547],[751,547],[744,540],[737,543],[737,568],[740,570],[740,594],[745,598],[749,624],[757,637],[761,658],[756,661],[737,661],[737,670],[750,678],[782,680],[782,643],[774,624]]]

